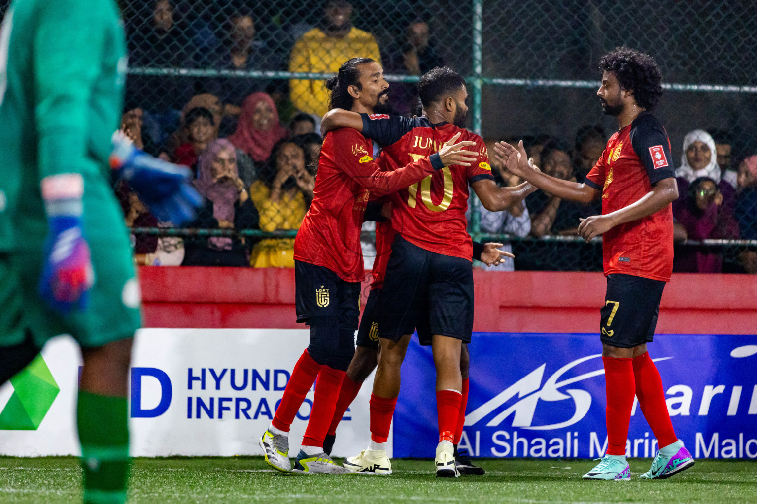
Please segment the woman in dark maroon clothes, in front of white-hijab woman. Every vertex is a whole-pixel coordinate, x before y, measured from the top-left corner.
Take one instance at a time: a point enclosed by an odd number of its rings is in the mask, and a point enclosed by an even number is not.
[[[689,186],[684,206],[674,211],[675,220],[686,230],[689,240],[733,240],[739,237],[739,225],[731,209],[723,205],[724,197],[715,179],[696,178]],[[723,256],[707,249],[681,251],[674,259],[673,271],[720,273]]]

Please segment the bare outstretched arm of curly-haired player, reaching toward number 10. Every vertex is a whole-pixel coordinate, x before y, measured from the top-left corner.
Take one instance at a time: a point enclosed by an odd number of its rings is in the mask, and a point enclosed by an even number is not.
[[[518,147],[513,147],[506,142],[497,142],[494,144],[494,157],[505,165],[513,175],[518,175],[523,180],[560,199],[591,203],[600,196],[600,190],[588,184],[564,181],[532,169],[528,164],[528,156],[523,148],[523,141],[519,142]]]

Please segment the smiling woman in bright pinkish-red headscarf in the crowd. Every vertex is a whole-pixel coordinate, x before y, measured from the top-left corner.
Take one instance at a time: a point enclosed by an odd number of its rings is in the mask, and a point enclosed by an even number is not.
[[[273,99],[267,93],[257,92],[245,98],[236,131],[229,141],[248,153],[254,162],[263,162],[286,134],[286,129],[279,124],[279,112]]]

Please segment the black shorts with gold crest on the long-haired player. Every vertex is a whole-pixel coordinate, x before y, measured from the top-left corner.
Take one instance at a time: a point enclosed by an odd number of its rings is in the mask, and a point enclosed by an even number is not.
[[[341,329],[357,329],[360,282],[347,282],[328,267],[294,261],[294,308],[298,323],[338,317]]]

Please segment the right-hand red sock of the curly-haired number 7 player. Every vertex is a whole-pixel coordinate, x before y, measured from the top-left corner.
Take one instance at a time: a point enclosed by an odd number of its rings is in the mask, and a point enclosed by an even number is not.
[[[662,379],[648,352],[634,357],[634,377],[636,397],[639,398],[641,412],[657,438],[660,448],[678,441],[665,403],[665,389]]]

